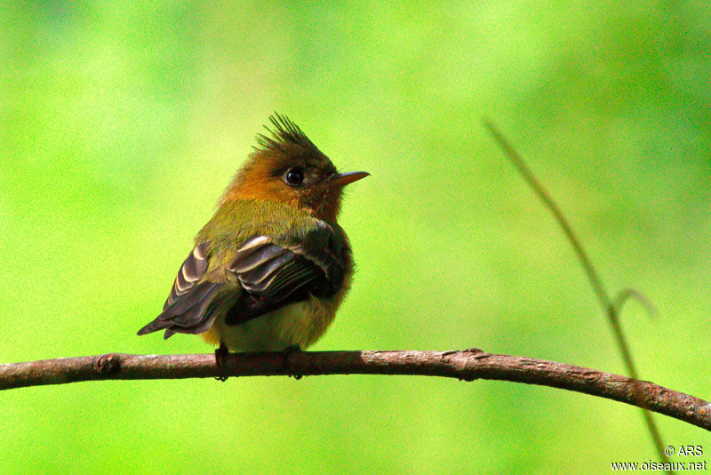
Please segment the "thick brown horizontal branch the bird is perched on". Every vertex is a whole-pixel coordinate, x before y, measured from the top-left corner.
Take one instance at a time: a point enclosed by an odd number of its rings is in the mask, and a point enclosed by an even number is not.
[[[652,382],[544,359],[463,351],[316,351],[128,355],[112,353],[0,365],[0,390],[95,380],[322,374],[410,374],[526,382],[645,407],[711,431],[711,403]]]

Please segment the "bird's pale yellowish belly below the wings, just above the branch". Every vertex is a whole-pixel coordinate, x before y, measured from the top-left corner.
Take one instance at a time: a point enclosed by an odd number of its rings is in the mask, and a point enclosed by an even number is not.
[[[331,325],[340,299],[310,297],[292,303],[237,326],[225,325],[225,317],[215,319],[203,334],[206,342],[224,342],[230,351],[281,351],[293,345],[302,350],[314,344]]]

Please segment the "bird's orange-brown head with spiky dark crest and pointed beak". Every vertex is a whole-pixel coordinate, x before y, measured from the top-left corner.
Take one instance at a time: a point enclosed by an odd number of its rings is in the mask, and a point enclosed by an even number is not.
[[[270,200],[308,210],[335,221],[343,187],[368,176],[338,173],[332,161],[287,117],[269,117],[273,128],[258,135],[258,146],[237,172],[221,199]]]

